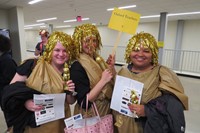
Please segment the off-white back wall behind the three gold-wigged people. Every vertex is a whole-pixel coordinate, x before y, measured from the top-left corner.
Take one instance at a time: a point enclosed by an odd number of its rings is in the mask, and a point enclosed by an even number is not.
[[[98,26],[101,34],[103,49],[101,54],[104,58],[107,58],[112,53],[113,46],[116,42],[118,31],[109,29],[107,26]],[[69,35],[73,34],[74,28],[54,29],[63,31]],[[149,32],[158,39],[159,22],[141,23],[138,26],[137,32]],[[169,21],[167,25],[165,45],[164,49],[174,49],[176,41],[177,21]],[[200,20],[186,20],[184,25],[182,50],[197,50],[200,51]],[[37,44],[37,37],[39,31],[26,31],[26,45],[34,50]],[[128,43],[128,40],[132,35],[122,33],[117,49],[117,61],[124,62],[124,49]]]

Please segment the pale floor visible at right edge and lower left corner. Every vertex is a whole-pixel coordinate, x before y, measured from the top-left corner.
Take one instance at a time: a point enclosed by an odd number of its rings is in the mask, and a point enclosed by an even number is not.
[[[185,93],[189,97],[189,110],[185,111],[186,133],[200,133],[200,79],[179,76]],[[6,125],[0,111],[0,133],[4,133]]]

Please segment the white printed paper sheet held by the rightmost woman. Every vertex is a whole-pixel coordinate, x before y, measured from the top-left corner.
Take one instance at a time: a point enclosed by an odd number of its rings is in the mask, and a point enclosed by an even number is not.
[[[130,111],[128,104],[131,103],[132,90],[135,91],[140,103],[143,86],[141,82],[117,75],[110,108],[126,116],[137,117]]]

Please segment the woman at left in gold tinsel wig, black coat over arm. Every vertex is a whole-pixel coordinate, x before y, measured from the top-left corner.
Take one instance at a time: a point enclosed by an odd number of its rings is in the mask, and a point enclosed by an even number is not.
[[[72,80],[63,81],[63,73],[69,69],[67,67],[74,58],[73,53],[71,36],[63,32],[53,32],[44,54],[38,60],[28,59],[18,67],[11,84],[5,89],[3,98],[3,109],[7,110],[10,113],[10,119],[13,119],[10,122],[13,124],[14,133],[64,132],[64,119],[35,126],[34,111],[41,110],[43,106],[34,105],[32,97],[33,94],[40,93],[64,93],[65,86],[68,86],[69,91],[74,91],[75,86]],[[74,96],[66,95],[66,118],[71,116],[69,104],[74,102]]]

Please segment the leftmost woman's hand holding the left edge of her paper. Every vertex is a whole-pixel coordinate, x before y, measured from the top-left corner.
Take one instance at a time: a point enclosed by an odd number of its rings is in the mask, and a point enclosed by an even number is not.
[[[29,99],[25,102],[25,107],[27,110],[29,111],[40,111],[42,110],[44,107],[42,105],[35,105],[33,102],[33,99]]]

